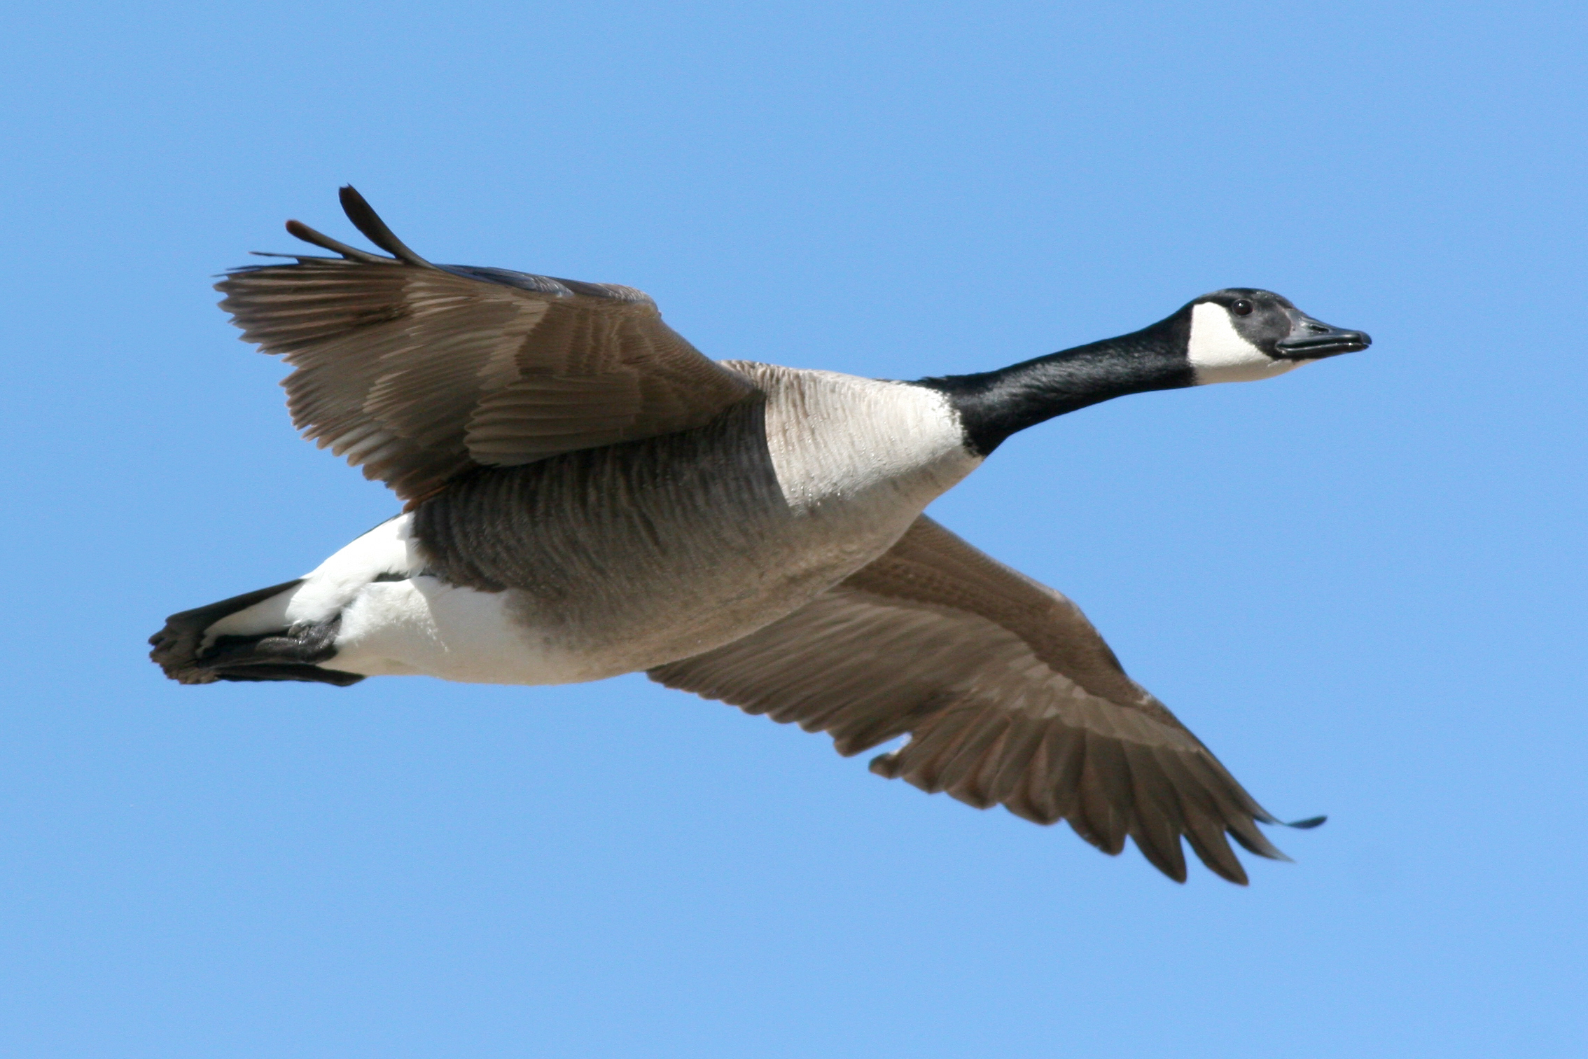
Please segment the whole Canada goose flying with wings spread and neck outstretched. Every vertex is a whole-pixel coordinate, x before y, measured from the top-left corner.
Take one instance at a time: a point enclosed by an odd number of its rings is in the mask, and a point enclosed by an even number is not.
[[[384,481],[395,518],[313,572],[173,614],[183,684],[429,675],[559,684],[645,672],[827,732],[872,772],[978,808],[1131,838],[1185,881],[1181,838],[1282,824],[1064,595],[923,511],[1018,430],[1145,391],[1266,379],[1366,349],[1269,291],[1150,327],[915,381],[711,360],[632,287],[437,265],[351,186],[376,254],[229,271],[243,341],[281,356],[294,424]],[[1289,826],[1315,826],[1323,818]]]

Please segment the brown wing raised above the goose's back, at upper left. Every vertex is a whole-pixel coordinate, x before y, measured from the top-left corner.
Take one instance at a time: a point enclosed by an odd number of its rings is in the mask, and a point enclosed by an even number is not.
[[[395,257],[289,221],[341,257],[238,268],[216,289],[245,341],[297,368],[284,386],[303,435],[408,500],[473,465],[699,427],[754,392],[640,291],[432,265],[353,187],[341,205]]]

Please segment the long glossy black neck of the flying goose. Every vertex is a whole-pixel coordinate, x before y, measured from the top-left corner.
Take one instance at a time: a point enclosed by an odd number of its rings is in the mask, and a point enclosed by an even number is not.
[[[1126,394],[1196,383],[1181,313],[1139,332],[1051,352],[996,372],[918,379],[948,395],[970,448],[986,456],[1004,438]]]

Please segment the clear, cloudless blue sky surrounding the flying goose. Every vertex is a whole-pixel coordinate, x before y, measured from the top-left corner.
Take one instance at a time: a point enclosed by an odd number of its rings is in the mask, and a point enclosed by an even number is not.
[[[1580,3],[13,5],[0,1054],[1588,1054]],[[349,238],[913,378],[1266,286],[1366,354],[934,506],[1285,816],[1186,886],[664,691],[179,687],[386,518],[211,276]]]

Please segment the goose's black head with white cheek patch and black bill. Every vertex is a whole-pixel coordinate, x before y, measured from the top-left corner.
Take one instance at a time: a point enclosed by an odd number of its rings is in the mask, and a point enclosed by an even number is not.
[[[1372,345],[1366,332],[1332,327],[1289,298],[1255,287],[1204,294],[1178,314],[1185,314],[1185,356],[1197,384],[1266,379]]]

